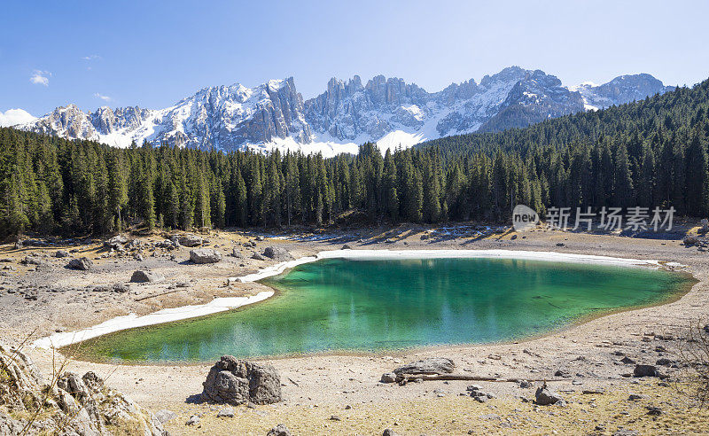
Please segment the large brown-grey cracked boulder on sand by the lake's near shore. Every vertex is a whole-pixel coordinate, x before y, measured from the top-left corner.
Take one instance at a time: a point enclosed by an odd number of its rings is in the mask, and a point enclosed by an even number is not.
[[[269,364],[260,364],[224,355],[202,384],[202,400],[238,406],[246,402],[271,404],[283,399],[281,378]]]

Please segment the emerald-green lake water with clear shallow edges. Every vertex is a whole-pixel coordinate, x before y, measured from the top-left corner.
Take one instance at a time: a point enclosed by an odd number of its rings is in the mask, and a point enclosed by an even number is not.
[[[686,292],[664,270],[503,259],[306,263],[261,281],[252,307],[119,331],[81,344],[111,362],[207,362],[331,351],[373,352],[521,339],[589,315]]]

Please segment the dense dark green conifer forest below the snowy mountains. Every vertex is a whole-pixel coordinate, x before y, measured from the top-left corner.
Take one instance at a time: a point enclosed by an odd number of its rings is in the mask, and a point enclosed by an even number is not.
[[[117,149],[0,128],[0,237],[147,228],[507,220],[526,204],[709,212],[709,80],[501,133],[356,156]]]

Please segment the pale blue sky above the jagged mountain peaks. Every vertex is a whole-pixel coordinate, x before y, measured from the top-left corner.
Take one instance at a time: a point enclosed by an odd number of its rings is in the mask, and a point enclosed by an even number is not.
[[[567,85],[709,76],[709,2],[20,1],[0,5],[0,111],[172,105],[206,86],[376,74],[440,90],[504,66]]]

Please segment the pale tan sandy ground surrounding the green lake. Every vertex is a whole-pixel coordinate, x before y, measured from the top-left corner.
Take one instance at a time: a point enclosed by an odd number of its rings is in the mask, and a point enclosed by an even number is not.
[[[347,242],[353,246],[354,252],[382,248],[558,252],[682,264],[698,283],[672,303],[607,315],[520,343],[446,346],[395,355],[310,355],[275,359],[269,362],[281,374],[286,401],[253,409],[238,408],[237,416],[231,420],[217,419],[216,406],[188,401],[192,395],[201,392],[209,364],[116,366],[75,361],[71,370],[79,373],[94,370],[107,378],[109,385],[129,393],[134,400],[153,411],[174,410],[178,417],[168,423],[168,429],[175,434],[233,434],[237,428],[238,434],[264,434],[280,422],[300,434],[380,434],[386,427],[403,434],[464,433],[470,430],[544,433],[552,430],[567,432],[563,429],[569,430],[569,423],[573,423],[579,433],[612,433],[620,427],[642,433],[673,429],[709,431],[706,416],[683,405],[682,397],[673,388],[658,385],[657,379],[643,379],[637,384],[635,380],[623,377],[623,374],[632,372],[632,367],[619,362],[622,355],[648,363],[654,363],[661,356],[672,357],[676,346],[673,339],[681,338],[690,322],[709,319],[706,285],[709,264],[705,252],[681,245],[680,236],[660,240],[535,230],[520,235],[508,233],[484,238],[437,236],[435,233],[432,237],[422,238],[423,230],[409,227],[381,235],[377,230],[359,230],[357,235],[354,232],[333,233],[312,241],[267,238],[257,242],[256,248],[244,247],[242,251],[249,253],[249,250],[260,250],[263,246],[282,245],[295,256],[302,257],[339,249]],[[220,232],[210,235],[209,239],[210,247],[230,253],[232,246],[243,246],[253,237]],[[385,243],[385,239],[389,243]],[[101,255],[98,245],[74,248],[90,257]],[[3,246],[0,259],[11,257],[19,261],[27,253],[52,253],[54,250],[54,247],[14,250],[11,246]],[[0,265],[12,265],[12,269],[4,270],[4,284],[0,286],[17,292],[0,290],[0,327],[3,331],[0,340],[17,344],[31,331],[34,331],[33,339],[41,338],[58,330],[81,330],[129,313],[147,315],[163,308],[206,304],[215,297],[248,297],[267,290],[261,284],[253,283],[227,285],[228,278],[257,273],[275,262],[225,256],[222,262],[214,265],[191,265],[184,262],[188,250],[158,252],[155,256],[146,255],[144,261],[114,257],[98,259],[96,268],[90,272],[60,268],[66,260],[51,258],[47,262],[56,264],[54,268],[24,266],[16,261],[2,263]],[[35,268],[38,270],[32,270]],[[166,280],[159,284],[131,285],[130,292],[121,294],[88,290],[97,284],[127,282],[135,269],[160,271]],[[177,283],[189,286],[176,287]],[[52,292],[52,286],[69,289]],[[19,293],[21,289],[39,289],[36,300],[26,300]],[[43,371],[51,371],[51,351],[33,349],[29,354]],[[534,390],[520,388],[514,383],[479,383],[497,397],[485,404],[460,396],[470,382],[439,381],[406,386],[378,383],[383,372],[398,364],[432,355],[453,359],[464,374],[559,379],[552,385],[564,392],[571,402],[564,409],[537,411],[531,403],[520,400],[520,397],[531,399]],[[557,370],[563,370],[568,377],[555,376]],[[582,393],[598,388],[604,389],[605,393]],[[627,401],[627,394],[631,392],[643,393],[644,399]],[[650,404],[662,407],[665,410],[663,416],[645,415],[644,407]],[[192,414],[202,415],[200,428],[184,425]],[[331,419],[332,416],[336,419]]]

